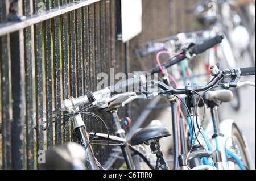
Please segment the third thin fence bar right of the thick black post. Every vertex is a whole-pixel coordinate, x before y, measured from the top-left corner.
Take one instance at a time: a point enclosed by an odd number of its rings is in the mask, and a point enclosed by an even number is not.
[[[50,9],[49,1],[45,1],[46,10]],[[46,123],[47,123],[47,148],[53,146],[52,124],[52,47],[51,47],[51,19],[44,22],[44,51],[45,51],[45,75],[46,75]]]

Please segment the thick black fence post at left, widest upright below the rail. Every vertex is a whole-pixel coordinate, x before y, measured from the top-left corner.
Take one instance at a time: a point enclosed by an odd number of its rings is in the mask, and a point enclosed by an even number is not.
[[[22,31],[10,33],[11,50],[11,94],[13,102],[13,122],[11,123],[11,158],[12,169],[24,169],[24,58],[20,53],[23,48]]]

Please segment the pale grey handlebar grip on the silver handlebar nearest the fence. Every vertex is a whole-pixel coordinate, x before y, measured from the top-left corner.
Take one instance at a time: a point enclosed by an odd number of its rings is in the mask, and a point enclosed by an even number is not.
[[[118,82],[113,86],[109,86],[109,89],[112,93],[136,91],[139,88],[139,86],[142,86],[145,83],[145,75],[140,75],[135,78],[127,79],[126,81]]]

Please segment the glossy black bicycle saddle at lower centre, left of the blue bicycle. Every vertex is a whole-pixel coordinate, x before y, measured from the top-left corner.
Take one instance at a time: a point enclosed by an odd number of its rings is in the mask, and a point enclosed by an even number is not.
[[[131,137],[131,145],[146,144],[147,141],[156,139],[157,141],[162,137],[171,136],[171,132],[168,128],[159,124],[158,120],[153,120],[147,127],[141,129]]]

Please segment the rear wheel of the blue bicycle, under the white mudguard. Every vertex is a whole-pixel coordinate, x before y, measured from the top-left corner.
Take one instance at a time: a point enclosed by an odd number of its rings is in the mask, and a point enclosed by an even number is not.
[[[253,165],[251,165],[250,161],[250,153],[247,149],[246,142],[243,139],[243,136],[236,124],[232,124],[232,145],[230,145],[229,147],[230,150],[233,151],[233,153],[238,155],[238,157],[242,161],[243,166],[245,166],[246,169],[253,169]],[[233,169],[240,170],[240,167],[237,165],[236,161],[234,161],[233,158],[228,159],[230,161],[229,166],[233,165]]]

